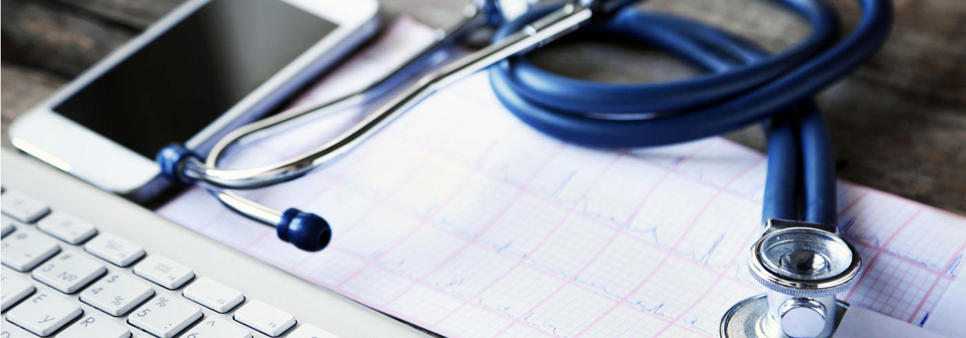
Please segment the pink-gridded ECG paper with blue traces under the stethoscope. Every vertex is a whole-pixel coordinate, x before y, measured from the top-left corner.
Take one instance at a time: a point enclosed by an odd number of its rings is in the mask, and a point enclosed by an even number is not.
[[[432,39],[403,18],[303,101],[360,88]],[[257,143],[231,165],[318,146],[363,110]],[[719,137],[629,151],[563,144],[514,118],[478,73],[336,163],[245,192],[325,217],[334,236],[322,252],[197,187],[158,212],[447,337],[708,337],[731,305],[764,292],[747,257],[765,166]],[[966,219],[852,183],[838,198],[867,267],[839,296],[922,325],[962,271]]]

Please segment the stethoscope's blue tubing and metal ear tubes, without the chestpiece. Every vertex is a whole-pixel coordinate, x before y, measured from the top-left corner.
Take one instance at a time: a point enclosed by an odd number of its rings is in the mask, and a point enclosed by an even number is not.
[[[303,223],[309,224],[308,228],[313,228],[312,224],[325,224],[325,221],[297,210],[274,211],[223,188],[254,188],[296,179],[345,154],[394,120],[399,112],[441,86],[498,62],[496,67],[490,67],[491,82],[497,98],[511,112],[529,126],[584,146],[626,148],[684,142],[782,116],[781,119],[788,120],[791,131],[783,131],[785,125],[779,123],[783,120],[776,118],[769,128],[769,155],[788,160],[769,163],[763,216],[799,219],[800,197],[806,196],[806,219],[824,222],[832,217],[834,223],[835,173],[831,165],[828,130],[810,98],[855,70],[884,42],[892,21],[891,3],[888,0],[860,0],[864,9],[861,23],[846,39],[834,43],[838,23],[824,2],[778,1],[808,20],[812,31],[804,42],[776,56],[769,56],[751,42],[688,19],[631,9],[617,12],[632,2],[584,1],[563,7],[545,7],[506,22],[497,30],[493,45],[424,77],[359,126],[309,156],[247,170],[217,167],[217,160],[224,151],[247,135],[257,136],[264,128],[286,125],[310,112],[319,115],[320,111],[339,110],[333,107],[341,109],[355,104],[365,99],[365,95],[340,99],[319,110],[313,107],[282,113],[279,117],[242,127],[219,142],[205,162],[178,147],[162,150],[158,162],[163,171],[177,181],[207,183],[206,187],[222,203],[248,217],[276,228],[289,227],[286,224],[293,220],[304,220]],[[593,8],[600,12],[592,14]],[[475,29],[493,23],[493,11],[497,10],[496,5],[477,7],[476,12],[467,12],[457,27],[469,27],[472,23]],[[538,18],[537,22],[530,23]],[[584,24],[591,21],[597,24]],[[709,73],[668,83],[607,84],[540,70],[528,63],[526,57],[515,56],[578,26],[654,44]],[[431,48],[441,49],[443,45],[438,42]],[[508,59],[503,60],[505,58]],[[435,65],[427,60],[432,58],[417,57],[408,65],[414,65],[412,69]],[[384,91],[384,88],[395,85],[385,81],[369,89]],[[801,158],[803,155],[807,158]],[[803,163],[805,167],[800,168]],[[798,182],[805,182],[805,191],[799,191]],[[325,229],[327,231],[327,224]],[[288,235],[284,232],[279,229],[280,238]],[[298,246],[318,250],[325,243]]]

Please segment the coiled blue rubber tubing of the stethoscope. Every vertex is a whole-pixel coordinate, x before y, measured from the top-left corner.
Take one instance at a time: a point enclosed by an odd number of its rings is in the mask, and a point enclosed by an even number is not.
[[[835,224],[832,145],[812,98],[878,50],[893,21],[889,0],[858,1],[861,22],[837,42],[838,20],[826,3],[776,0],[811,26],[805,41],[776,55],[696,21],[634,9],[586,28],[649,43],[706,71],[693,78],[592,82],[541,70],[526,56],[517,56],[491,67],[490,79],[497,98],[527,125],[588,147],[666,145],[773,119],[766,126],[769,162],[762,217]],[[504,24],[494,40],[556,8]],[[635,119],[640,113],[657,117]]]

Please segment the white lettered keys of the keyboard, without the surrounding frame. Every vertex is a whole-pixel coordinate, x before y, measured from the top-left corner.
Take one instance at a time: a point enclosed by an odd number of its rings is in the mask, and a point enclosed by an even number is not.
[[[297,322],[258,299],[241,305],[241,291],[196,276],[190,267],[128,239],[99,233],[95,225],[51,211],[20,191],[4,189],[2,206],[3,311],[9,310],[7,322],[38,336],[63,328],[58,338],[126,338],[131,331],[161,338],[183,331],[191,338],[245,338],[252,330],[277,337]],[[81,303],[99,312],[84,311]],[[213,312],[203,321],[202,307]],[[4,337],[13,335],[4,326]],[[302,325],[289,337],[325,333]]]

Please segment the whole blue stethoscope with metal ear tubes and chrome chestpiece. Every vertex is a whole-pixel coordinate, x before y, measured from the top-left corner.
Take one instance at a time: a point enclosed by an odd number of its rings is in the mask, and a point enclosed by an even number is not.
[[[526,0],[475,1],[457,22],[438,30],[436,42],[368,88],[234,130],[204,161],[171,145],[158,153],[157,162],[174,181],[202,183],[231,210],[275,227],[279,239],[318,251],[331,237],[322,217],[296,209],[277,211],[229,189],[297,179],[347,154],[441,87],[479,70],[488,70],[497,98],[527,125],[587,147],[665,145],[768,121],[764,232],[751,249],[749,267],[769,292],[732,307],[722,320],[721,335],[829,337],[847,308],[835,295],[858,282],[862,261],[855,247],[838,236],[831,140],[811,98],[858,68],[889,35],[892,3],[858,1],[861,22],[836,42],[838,20],[827,4],[777,0],[809,21],[812,30],[804,42],[773,56],[692,20],[624,9],[636,0],[574,0],[532,10]],[[443,65],[449,46],[485,26],[498,27],[491,45]],[[668,83],[611,84],[565,77],[526,61],[527,51],[577,29],[658,46],[707,74]],[[417,76],[426,70],[432,71]],[[412,78],[418,80],[408,84]],[[252,169],[218,168],[226,151],[244,139],[387,96],[391,99],[355,127],[304,155]]]

